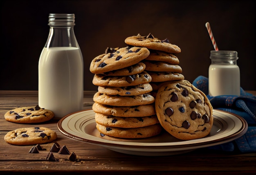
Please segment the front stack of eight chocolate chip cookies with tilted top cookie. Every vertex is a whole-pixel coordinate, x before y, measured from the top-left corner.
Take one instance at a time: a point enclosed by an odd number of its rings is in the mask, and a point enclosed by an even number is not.
[[[141,61],[149,56],[146,47],[107,48],[90,65],[97,129],[101,135],[119,138],[146,138],[158,135],[162,126],[150,95],[151,76]]]

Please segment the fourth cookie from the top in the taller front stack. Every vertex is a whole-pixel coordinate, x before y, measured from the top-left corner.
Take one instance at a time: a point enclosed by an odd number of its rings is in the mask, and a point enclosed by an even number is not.
[[[124,86],[124,87],[110,87],[110,86],[99,86],[98,92],[107,95],[121,95],[121,96],[135,96],[140,94],[146,94],[152,91],[152,87],[149,83],[135,85],[135,86]]]

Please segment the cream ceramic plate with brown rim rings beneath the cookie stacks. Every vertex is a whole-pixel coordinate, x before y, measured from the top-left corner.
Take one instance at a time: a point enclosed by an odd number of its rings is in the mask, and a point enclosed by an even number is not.
[[[145,139],[118,139],[101,137],[96,128],[93,110],[69,114],[58,121],[58,129],[68,138],[103,146],[119,153],[144,156],[163,156],[186,153],[197,148],[223,144],[245,134],[247,122],[235,114],[213,110],[213,127],[207,137],[180,140],[163,132]]]

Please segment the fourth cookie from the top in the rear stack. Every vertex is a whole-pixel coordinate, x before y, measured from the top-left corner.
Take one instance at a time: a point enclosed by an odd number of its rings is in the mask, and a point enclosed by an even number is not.
[[[184,80],[184,75],[177,72],[154,72],[154,71],[147,71],[147,72],[151,76],[151,79],[152,79],[151,82]]]

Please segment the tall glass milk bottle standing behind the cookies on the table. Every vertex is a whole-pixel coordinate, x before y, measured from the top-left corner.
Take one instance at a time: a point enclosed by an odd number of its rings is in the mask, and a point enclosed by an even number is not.
[[[83,108],[83,56],[74,14],[49,14],[49,36],[38,63],[38,105],[56,118]]]

